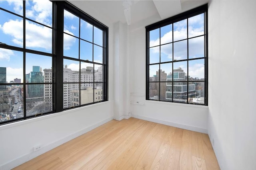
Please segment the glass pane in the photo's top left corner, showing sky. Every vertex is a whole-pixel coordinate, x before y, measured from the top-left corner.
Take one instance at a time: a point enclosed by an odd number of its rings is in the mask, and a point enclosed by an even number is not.
[[[22,0],[0,0],[0,7],[23,16]],[[1,13],[0,13],[1,16]],[[2,17],[1,17],[2,18]],[[3,17],[4,18],[4,17]]]

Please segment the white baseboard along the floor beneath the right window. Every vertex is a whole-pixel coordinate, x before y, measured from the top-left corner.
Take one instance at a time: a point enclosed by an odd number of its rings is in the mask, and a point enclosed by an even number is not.
[[[203,128],[200,128],[200,127],[184,125],[184,124],[180,124],[180,123],[174,123],[174,122],[170,122],[170,121],[155,119],[155,118],[146,117],[146,116],[134,115],[134,114],[132,114],[132,117],[137,118],[137,119],[146,120],[146,121],[152,121],[152,122],[155,122],[155,123],[160,123],[160,124],[163,124],[163,125],[168,125],[168,126],[178,127],[178,128],[181,128],[181,129],[186,129],[186,130],[190,130],[190,131],[196,131],[196,132],[208,134],[207,129],[203,129]]]

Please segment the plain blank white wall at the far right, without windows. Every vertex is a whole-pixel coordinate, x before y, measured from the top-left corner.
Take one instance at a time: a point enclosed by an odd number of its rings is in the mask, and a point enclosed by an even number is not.
[[[222,170],[252,170],[256,168],[256,1],[214,0],[208,6],[208,133]]]

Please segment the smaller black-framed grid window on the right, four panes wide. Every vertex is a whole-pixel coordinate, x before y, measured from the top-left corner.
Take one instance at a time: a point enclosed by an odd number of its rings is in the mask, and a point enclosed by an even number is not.
[[[146,100],[207,105],[207,8],[146,27]]]

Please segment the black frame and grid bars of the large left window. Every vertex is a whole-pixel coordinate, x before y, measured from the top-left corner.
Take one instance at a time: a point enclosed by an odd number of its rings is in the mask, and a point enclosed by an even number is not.
[[[0,7],[0,10],[2,11],[5,11],[15,16],[23,18],[23,47],[8,45],[5,42],[2,42],[2,40],[0,43],[0,48],[2,49],[15,50],[23,53],[23,83],[0,83],[0,86],[21,85],[23,86],[24,94],[26,94],[26,85],[28,84],[52,84],[52,111],[47,113],[37,113],[35,115],[27,116],[26,115],[26,97],[24,95],[24,98],[23,98],[24,116],[17,119],[0,121],[0,125],[12,123],[15,121],[31,119],[33,117],[48,115],[48,114],[57,113],[60,111],[74,108],[74,107],[68,107],[65,109],[63,108],[63,102],[64,102],[63,101],[63,95],[64,95],[63,94],[63,59],[67,58],[63,56],[64,9],[68,10],[69,12],[72,12],[72,14],[75,14],[79,18],[98,27],[99,29],[102,29],[103,35],[104,35],[103,45],[102,45],[104,49],[103,56],[102,56],[103,57],[102,65],[104,65],[104,70],[102,70],[104,72],[104,74],[102,75],[103,83],[104,83],[104,86],[102,87],[104,100],[99,102],[93,102],[90,104],[79,105],[75,107],[82,107],[86,105],[108,101],[108,27],[103,23],[101,23],[100,21],[89,16],[88,14],[86,14],[85,12],[83,12],[82,10],[80,10],[70,2],[67,2],[67,1],[51,1],[51,2],[52,2],[52,27],[49,27],[48,25],[45,25],[43,23],[39,23],[37,21],[26,18],[26,1],[25,0],[23,1],[23,16],[20,16],[19,14],[16,14],[14,12],[11,12],[9,10],[6,10]],[[36,51],[36,50],[26,48],[26,25],[25,25],[26,20],[32,21],[34,23],[37,23],[52,29],[52,53]],[[52,57],[52,82],[51,83],[49,82],[26,83],[26,69],[25,69],[26,53]],[[101,82],[96,82],[96,83],[101,83]]]

